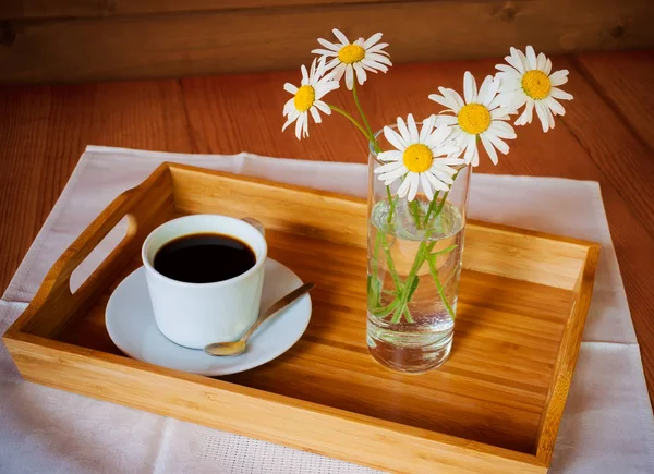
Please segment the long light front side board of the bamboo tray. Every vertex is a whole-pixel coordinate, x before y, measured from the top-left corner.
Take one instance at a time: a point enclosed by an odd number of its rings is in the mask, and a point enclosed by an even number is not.
[[[315,440],[312,452],[354,461],[398,473],[444,474],[544,474],[547,470],[533,455],[513,453],[474,441],[429,433],[400,429],[392,422],[292,401],[208,377],[181,374],[111,354],[77,350],[69,344],[34,336],[4,339],[29,380],[82,391],[88,397],[125,402],[183,421],[227,429],[237,434],[306,448],[307,435]],[[45,350],[39,349],[45,345]],[[66,369],[74,368],[74,370]],[[111,378],[114,384],[108,385]],[[152,397],[159,387],[162,397]],[[257,403],[254,403],[258,400]],[[283,435],[262,424],[284,426]],[[314,429],[319,427],[319,429]],[[352,449],[343,449],[343,446]],[[452,459],[450,453],[457,457]]]

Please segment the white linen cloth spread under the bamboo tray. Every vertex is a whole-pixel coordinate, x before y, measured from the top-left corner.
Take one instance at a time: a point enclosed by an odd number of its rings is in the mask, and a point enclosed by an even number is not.
[[[25,309],[48,269],[80,232],[119,193],[165,160],[362,197],[366,193],[363,165],[89,146],[0,301],[0,333]],[[654,420],[598,183],[475,174],[470,217],[602,244],[550,473],[654,473]],[[110,235],[76,278],[88,275],[121,236]],[[0,344],[0,473],[41,472],[375,471],[26,382]]]

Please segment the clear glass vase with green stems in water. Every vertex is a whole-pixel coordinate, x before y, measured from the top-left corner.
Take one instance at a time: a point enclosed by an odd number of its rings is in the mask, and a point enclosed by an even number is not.
[[[382,149],[392,149],[376,135]],[[399,198],[368,157],[367,345],[382,365],[423,373],[447,361],[452,347],[468,190],[472,168],[457,167],[449,192]]]

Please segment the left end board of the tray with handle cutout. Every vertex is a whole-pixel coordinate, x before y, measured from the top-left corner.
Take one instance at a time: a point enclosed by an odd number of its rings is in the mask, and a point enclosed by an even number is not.
[[[10,330],[52,338],[70,319],[88,311],[107,284],[132,262],[145,238],[142,234],[169,217],[170,212],[162,212],[162,207],[169,207],[171,211],[174,208],[168,163],[161,165],[138,186],[120,194],[93,220],[57,259],[32,303]],[[128,230],[124,238],[82,285],[71,292],[73,271],[125,216]],[[48,311],[41,312],[43,308]]]

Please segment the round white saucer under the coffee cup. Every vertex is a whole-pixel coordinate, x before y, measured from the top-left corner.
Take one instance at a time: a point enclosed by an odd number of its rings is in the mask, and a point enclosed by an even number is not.
[[[301,284],[302,280],[291,269],[268,258],[262,308],[268,307]],[[278,357],[298,342],[310,319],[311,299],[305,294],[272,320],[264,323],[247,342],[245,353],[213,357],[199,350],[182,348],[159,331],[143,267],[118,285],[105,313],[109,337],[125,354],[161,367],[208,376],[235,374]]]

